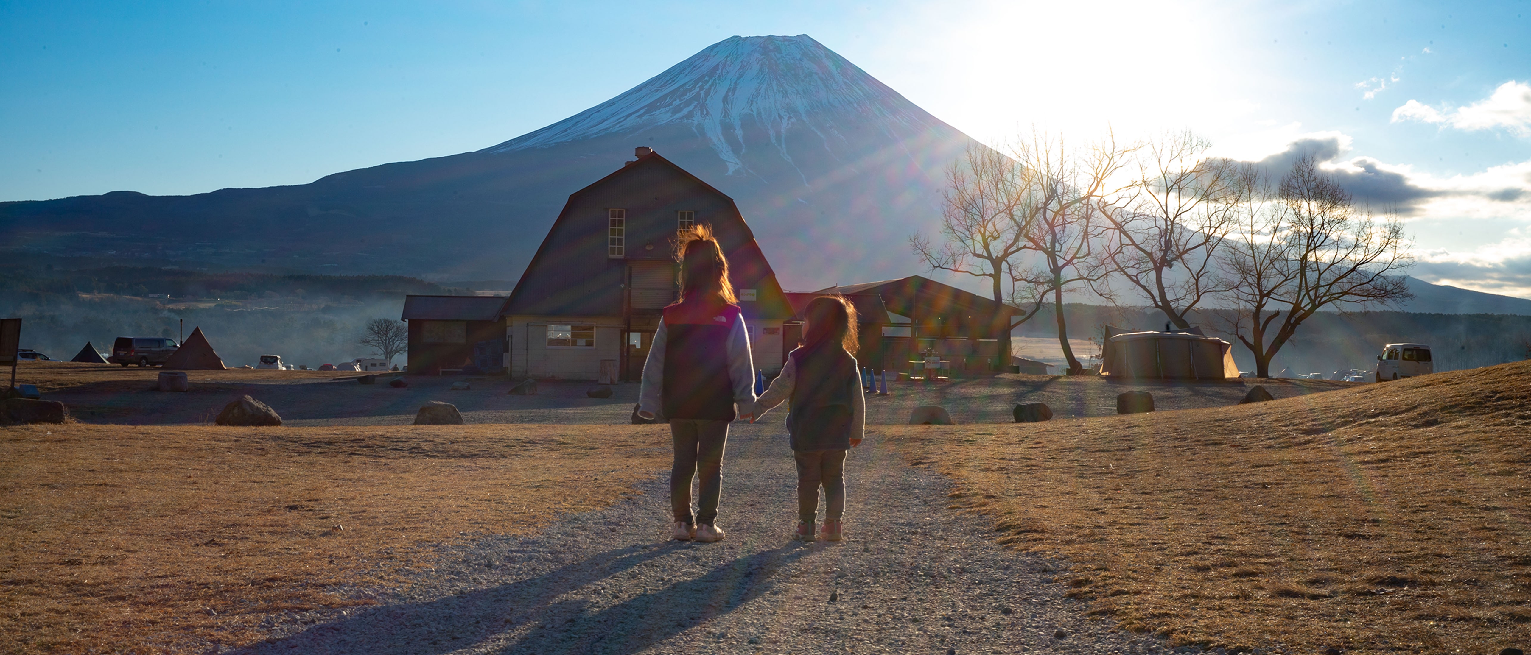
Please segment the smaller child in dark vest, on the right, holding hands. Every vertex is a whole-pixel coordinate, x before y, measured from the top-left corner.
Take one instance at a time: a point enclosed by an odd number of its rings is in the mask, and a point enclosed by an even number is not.
[[[821,295],[804,311],[802,344],[787,357],[781,375],[759,396],[756,416],[790,401],[787,433],[798,461],[798,534],[811,542],[819,485],[824,487],[824,528],[842,539],[845,514],[845,453],[860,445],[867,427],[867,396],[851,352],[856,350],[856,308],[839,295]]]

